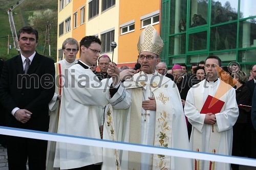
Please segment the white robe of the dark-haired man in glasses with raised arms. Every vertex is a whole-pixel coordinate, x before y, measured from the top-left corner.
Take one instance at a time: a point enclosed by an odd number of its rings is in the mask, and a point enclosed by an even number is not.
[[[114,108],[124,109],[131,104],[131,95],[122,86],[110,98],[112,79],[99,82],[88,67],[79,61],[68,69],[68,83],[63,87],[61,98],[59,134],[100,139],[101,117],[97,114],[97,106],[110,103]],[[56,144],[54,167],[70,169],[101,162],[102,148],[62,142]]]

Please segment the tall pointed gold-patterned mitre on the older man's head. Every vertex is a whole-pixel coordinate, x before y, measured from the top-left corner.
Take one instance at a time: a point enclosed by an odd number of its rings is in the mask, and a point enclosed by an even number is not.
[[[163,40],[153,26],[147,26],[140,34],[138,52],[152,52],[160,55],[163,48]]]

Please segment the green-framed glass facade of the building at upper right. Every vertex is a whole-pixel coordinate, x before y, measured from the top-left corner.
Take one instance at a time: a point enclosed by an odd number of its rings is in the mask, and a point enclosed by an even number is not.
[[[255,0],[162,0],[161,60],[168,67],[217,55],[247,74],[256,64]]]

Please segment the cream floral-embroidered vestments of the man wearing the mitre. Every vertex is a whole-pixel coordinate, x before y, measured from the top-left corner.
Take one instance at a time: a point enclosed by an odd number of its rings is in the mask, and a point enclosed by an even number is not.
[[[172,80],[157,72],[153,75],[139,72],[131,80],[126,80],[124,87],[132,93],[131,107],[126,110],[108,110],[103,139],[189,150],[182,103],[178,88]],[[155,98],[156,111],[142,108],[142,101],[149,100],[148,97]],[[183,170],[191,169],[191,166],[190,159],[103,148],[102,170]]]

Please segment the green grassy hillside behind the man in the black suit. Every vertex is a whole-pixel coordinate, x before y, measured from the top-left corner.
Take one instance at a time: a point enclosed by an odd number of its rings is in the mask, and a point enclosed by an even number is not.
[[[2,2],[2,4],[6,4],[6,1],[0,0],[0,2]],[[4,31],[1,31],[1,33],[0,33],[0,38],[2,36],[10,34],[10,39],[11,39],[12,44],[13,44],[13,40],[12,40],[12,36],[11,36],[9,19],[8,19],[8,15],[7,15],[6,11],[8,10],[9,7],[11,7],[12,5],[15,5],[16,2],[17,1],[8,1],[8,5],[4,5],[6,7],[2,7],[4,9],[3,10],[1,9],[1,13],[0,13],[0,19],[4,22],[4,25],[5,25]],[[18,30],[20,28],[22,28],[23,26],[29,26],[28,17],[33,15],[33,13],[35,11],[44,12],[46,9],[52,9],[53,11],[55,11],[55,13],[57,15],[57,5],[58,5],[57,0],[44,0],[44,1],[25,0],[23,3],[20,3],[12,11],[16,31],[18,32]],[[51,21],[51,22],[53,22],[53,21]],[[46,25],[47,25],[47,22],[45,24],[40,25],[40,27],[36,28],[39,33],[39,40],[38,40],[36,51],[40,54],[42,54],[43,50],[44,50]],[[35,26],[32,26],[32,27],[35,27]],[[51,23],[51,29],[50,29],[51,58],[54,59],[55,61],[56,61],[56,54],[57,54],[57,52],[56,52],[57,31],[56,30],[57,30],[57,22]],[[2,38],[1,38],[1,40],[2,40]],[[9,55],[7,55],[7,41],[3,40],[3,42],[2,42],[1,40],[0,40],[0,44],[1,44],[0,45],[0,54],[1,54],[0,57],[4,57],[5,59],[8,59],[17,54],[17,50],[12,48],[9,52]],[[6,43],[6,45],[4,43]],[[49,52],[49,49],[48,49],[48,42],[47,42],[46,49],[45,49],[45,56],[49,57],[48,52]]]

